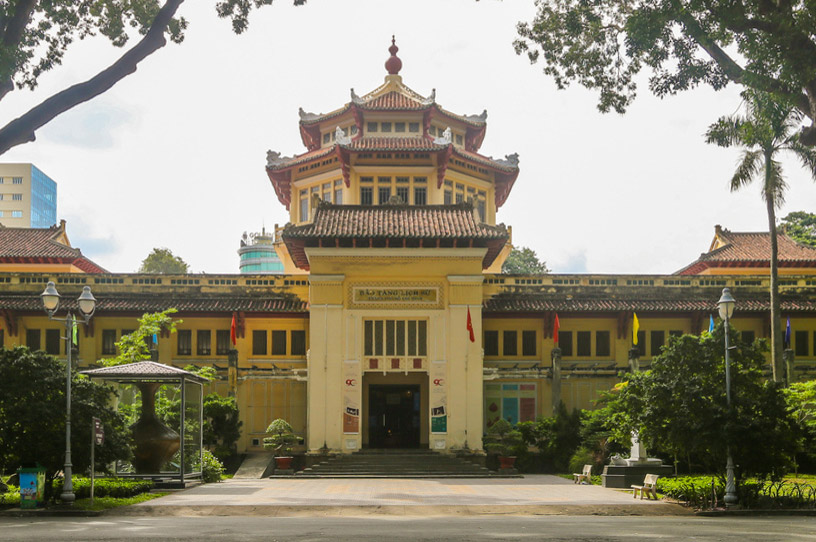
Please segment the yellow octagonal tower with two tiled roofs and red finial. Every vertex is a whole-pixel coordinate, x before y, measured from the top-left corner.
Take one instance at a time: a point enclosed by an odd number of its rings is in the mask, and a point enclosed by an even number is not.
[[[300,110],[306,152],[269,151],[266,171],[290,222],[314,219],[320,200],[343,205],[471,202],[474,218],[496,224],[518,176],[518,155],[479,154],[487,111],[458,115],[408,88],[392,38],[385,82],[329,113]],[[397,199],[399,198],[399,199]]]

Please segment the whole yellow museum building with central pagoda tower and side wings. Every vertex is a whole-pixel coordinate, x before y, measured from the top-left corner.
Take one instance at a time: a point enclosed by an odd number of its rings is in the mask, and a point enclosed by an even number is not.
[[[60,246],[54,231],[21,230],[12,243],[0,228],[0,341],[64,356],[39,299],[48,281],[66,300],[86,285],[98,299],[83,367],[114,356],[141,314],[174,307],[182,323],[159,338],[159,360],[216,368],[211,389],[239,403],[240,451],[260,450],[269,422],[285,418],[317,453],[478,451],[500,417],[533,420],[560,401],[592,408],[633,358],[648,367],[669,336],[707,329],[726,286],[734,326],[770,335],[767,233],[717,226],[708,251],[669,275],[502,274],[512,239],[496,213],[518,156],[480,154],[486,112],[456,114],[411,90],[389,51],[380,87],[352,90],[329,113],[301,110],[303,154],[268,153],[290,216],[272,241],[282,274],[108,273],[70,248],[64,224]],[[816,250],[778,240],[787,376],[812,378]],[[82,264],[49,267],[49,251]]]

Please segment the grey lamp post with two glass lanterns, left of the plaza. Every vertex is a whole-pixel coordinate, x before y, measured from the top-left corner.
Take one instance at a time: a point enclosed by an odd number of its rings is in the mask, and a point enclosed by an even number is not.
[[[56,320],[65,323],[65,466],[63,467],[63,474],[65,481],[62,486],[62,494],[60,499],[63,504],[73,504],[76,496],[74,495],[74,487],[71,483],[71,348],[73,346],[71,338],[73,336],[74,314],[69,310],[65,318],[55,318],[54,313],[57,312],[60,302],[60,294],[57,292],[53,282],[49,282],[45,291],[40,294],[43,308],[48,314],[49,320]],[[91,287],[85,286],[82,288],[82,293],[77,299],[79,307],[79,314],[83,318],[83,322],[87,325],[96,310],[96,299],[91,293]]]

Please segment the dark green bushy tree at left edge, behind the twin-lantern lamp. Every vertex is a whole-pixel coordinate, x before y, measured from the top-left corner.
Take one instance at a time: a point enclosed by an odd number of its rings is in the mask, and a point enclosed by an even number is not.
[[[62,470],[65,454],[65,365],[42,351],[0,348],[0,471],[40,463],[47,483]],[[105,443],[96,447],[97,468],[130,457],[124,418],[110,407],[113,391],[72,375],[71,462],[90,464],[91,418],[102,420]]]

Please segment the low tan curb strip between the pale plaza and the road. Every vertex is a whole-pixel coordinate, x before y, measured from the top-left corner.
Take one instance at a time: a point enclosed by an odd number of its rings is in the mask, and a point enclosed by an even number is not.
[[[114,508],[106,516],[690,516],[688,508],[674,504],[626,505],[131,505]]]

